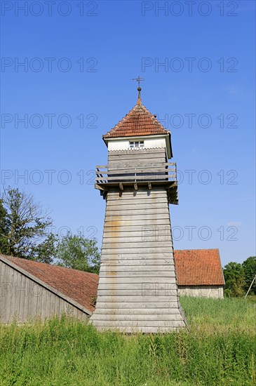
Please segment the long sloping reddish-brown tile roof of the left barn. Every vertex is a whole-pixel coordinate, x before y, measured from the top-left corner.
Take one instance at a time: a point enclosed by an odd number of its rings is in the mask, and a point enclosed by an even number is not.
[[[4,260],[1,257],[93,312],[93,298],[97,297],[99,279],[97,274],[5,255],[0,255],[0,260]]]

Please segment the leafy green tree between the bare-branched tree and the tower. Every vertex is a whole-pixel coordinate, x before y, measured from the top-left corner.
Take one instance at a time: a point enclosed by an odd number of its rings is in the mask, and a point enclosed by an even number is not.
[[[96,239],[86,239],[82,235],[68,233],[57,246],[56,258],[62,267],[98,273],[100,253]]]

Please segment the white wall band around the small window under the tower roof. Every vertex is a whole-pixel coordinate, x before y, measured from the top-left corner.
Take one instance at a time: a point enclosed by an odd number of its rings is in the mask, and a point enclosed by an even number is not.
[[[133,137],[129,139],[122,138],[121,140],[120,139],[108,140],[107,148],[109,152],[111,152],[112,150],[128,150],[130,149],[130,142],[134,142],[134,141],[144,141],[144,149],[166,147],[166,137],[162,137],[162,138]]]

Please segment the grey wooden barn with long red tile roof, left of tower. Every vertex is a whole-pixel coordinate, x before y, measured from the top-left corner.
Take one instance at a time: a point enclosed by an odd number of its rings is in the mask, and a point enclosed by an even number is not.
[[[46,319],[63,313],[90,317],[97,274],[0,255],[0,322]]]

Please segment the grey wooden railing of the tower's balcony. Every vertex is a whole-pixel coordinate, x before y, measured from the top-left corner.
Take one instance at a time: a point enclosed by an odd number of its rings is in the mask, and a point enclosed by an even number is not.
[[[126,182],[177,182],[175,162],[161,162],[148,166],[122,167],[100,165],[96,166],[95,183],[116,184]]]

